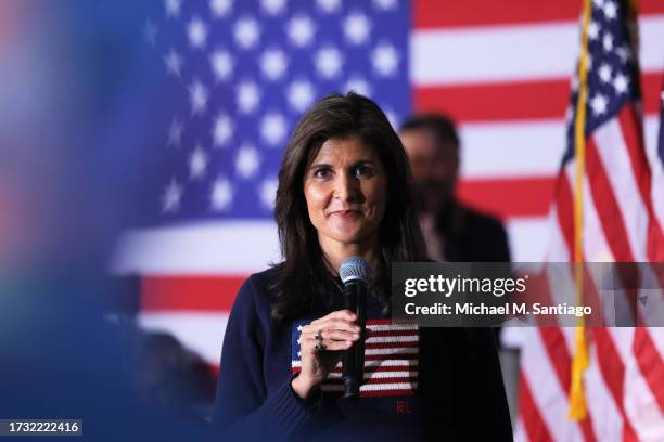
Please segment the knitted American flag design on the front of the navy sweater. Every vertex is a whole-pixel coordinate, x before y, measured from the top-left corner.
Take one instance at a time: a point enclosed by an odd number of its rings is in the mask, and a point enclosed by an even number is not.
[[[291,372],[302,368],[299,334],[309,321],[296,321],[291,338]],[[371,332],[365,342],[365,382],[360,396],[412,395],[418,387],[420,333],[417,324],[396,324],[391,320],[367,321]],[[340,362],[321,385],[330,394],[342,394]]]

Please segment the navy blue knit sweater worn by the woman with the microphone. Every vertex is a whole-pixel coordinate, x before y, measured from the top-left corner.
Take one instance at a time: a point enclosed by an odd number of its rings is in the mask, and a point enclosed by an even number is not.
[[[348,402],[318,391],[301,399],[291,387],[294,322],[270,316],[267,287],[277,272],[252,275],[230,314],[213,413],[228,440],[511,440],[490,329],[420,328],[414,394]],[[368,297],[368,318],[381,311]]]

